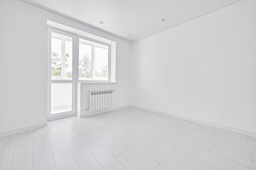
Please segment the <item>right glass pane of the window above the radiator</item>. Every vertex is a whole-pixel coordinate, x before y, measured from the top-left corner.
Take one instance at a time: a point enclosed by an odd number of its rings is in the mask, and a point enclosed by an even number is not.
[[[108,49],[95,47],[95,79],[108,80]]]

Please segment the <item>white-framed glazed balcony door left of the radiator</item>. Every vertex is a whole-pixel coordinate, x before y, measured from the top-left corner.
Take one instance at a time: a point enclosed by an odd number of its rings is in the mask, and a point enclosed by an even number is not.
[[[75,36],[48,28],[47,118],[75,113]]]

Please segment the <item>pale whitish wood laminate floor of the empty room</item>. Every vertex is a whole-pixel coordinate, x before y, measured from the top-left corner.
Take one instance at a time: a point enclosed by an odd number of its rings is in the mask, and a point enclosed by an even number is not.
[[[0,170],[256,170],[256,137],[132,107],[0,137]]]

